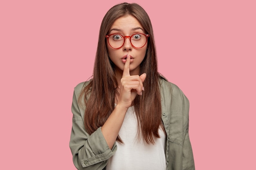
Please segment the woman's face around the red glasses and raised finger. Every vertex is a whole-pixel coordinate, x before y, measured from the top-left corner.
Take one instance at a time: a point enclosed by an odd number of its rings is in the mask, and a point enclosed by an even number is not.
[[[118,18],[110,27],[109,35],[118,33],[123,36],[131,36],[134,33],[145,33],[139,21],[132,15]],[[146,55],[147,44],[140,49],[134,48],[129,38],[125,38],[124,46],[120,49],[113,49],[108,42],[108,55],[115,64],[116,71],[122,75],[126,55],[130,55],[130,75],[139,75],[140,64]]]

